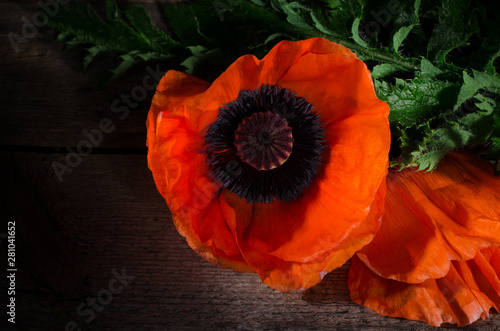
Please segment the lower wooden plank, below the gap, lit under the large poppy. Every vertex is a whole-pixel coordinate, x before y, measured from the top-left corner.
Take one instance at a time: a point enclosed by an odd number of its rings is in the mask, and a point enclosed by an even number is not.
[[[62,182],[52,163],[64,162],[63,155],[2,153],[0,160],[4,192],[10,192],[2,197],[4,208],[25,246],[18,257],[20,326],[433,329],[352,303],[347,265],[311,289],[286,294],[255,274],[211,265],[177,233],[144,155],[92,154]],[[107,303],[107,291],[120,287],[110,285],[116,274],[129,278]],[[107,304],[91,308],[87,300],[96,297]],[[495,314],[467,329],[499,327]]]

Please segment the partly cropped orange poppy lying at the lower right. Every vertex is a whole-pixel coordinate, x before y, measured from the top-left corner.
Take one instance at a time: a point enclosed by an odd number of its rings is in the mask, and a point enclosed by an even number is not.
[[[500,308],[500,177],[450,153],[432,173],[389,171],[382,225],[351,260],[353,301],[381,315],[470,324]]]

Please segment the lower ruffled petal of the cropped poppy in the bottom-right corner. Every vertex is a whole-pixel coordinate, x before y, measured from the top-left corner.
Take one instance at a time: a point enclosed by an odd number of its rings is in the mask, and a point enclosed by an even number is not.
[[[395,248],[397,249],[397,248]],[[500,308],[500,248],[478,251],[468,261],[453,261],[447,274],[408,284],[382,278],[353,257],[348,285],[354,302],[380,315],[443,323],[470,324]]]

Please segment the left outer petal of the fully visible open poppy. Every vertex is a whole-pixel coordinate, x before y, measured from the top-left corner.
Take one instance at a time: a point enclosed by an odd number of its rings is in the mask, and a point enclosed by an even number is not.
[[[214,200],[219,187],[210,180],[205,158],[197,150],[202,148],[203,136],[187,130],[183,118],[168,116],[207,86],[200,79],[175,71],[164,76],[148,116],[148,164],[179,233],[189,245],[214,264],[250,271],[227,229],[220,204]]]

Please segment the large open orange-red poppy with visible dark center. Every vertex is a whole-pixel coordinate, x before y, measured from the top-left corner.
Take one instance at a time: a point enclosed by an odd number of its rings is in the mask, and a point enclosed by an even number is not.
[[[283,41],[212,84],[167,72],[148,116],[148,163],[201,256],[281,291],[307,288],[379,227],[388,112],[350,50]]]

